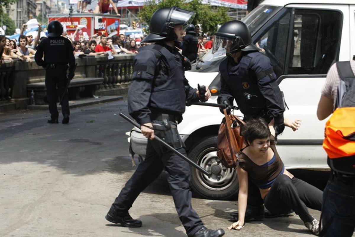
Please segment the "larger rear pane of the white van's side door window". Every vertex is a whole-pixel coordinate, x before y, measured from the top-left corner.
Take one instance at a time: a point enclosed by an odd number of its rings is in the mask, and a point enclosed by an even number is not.
[[[340,12],[296,9],[287,74],[326,74],[337,60]]]

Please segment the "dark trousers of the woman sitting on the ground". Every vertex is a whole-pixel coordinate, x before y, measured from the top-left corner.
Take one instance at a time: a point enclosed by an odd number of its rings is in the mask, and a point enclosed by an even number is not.
[[[294,210],[303,222],[312,221],[308,208],[322,210],[323,192],[301,179],[285,174],[274,181],[264,199],[266,209],[274,214],[286,214]]]

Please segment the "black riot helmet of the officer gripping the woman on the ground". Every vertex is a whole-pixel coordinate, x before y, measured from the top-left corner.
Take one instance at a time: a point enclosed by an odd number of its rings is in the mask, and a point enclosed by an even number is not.
[[[224,23],[217,33],[215,33],[212,53],[224,49],[227,56],[239,51],[260,50],[251,43],[251,35],[248,27],[244,22],[238,20]]]

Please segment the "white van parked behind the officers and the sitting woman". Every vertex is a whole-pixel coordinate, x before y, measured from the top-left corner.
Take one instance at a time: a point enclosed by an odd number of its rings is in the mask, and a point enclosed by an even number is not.
[[[355,55],[355,1],[265,0],[242,21],[252,41],[271,60],[289,108],[284,117],[302,120],[299,130],[285,128],[278,136],[277,148],[286,168],[327,169],[322,149],[325,122],[317,119],[317,104],[333,62],[352,60]],[[209,85],[217,91],[208,102],[217,103],[218,66],[224,57],[209,51],[186,72],[191,86]],[[189,157],[212,171],[208,177],[192,168],[193,191],[204,198],[235,198],[236,172],[225,168],[216,155],[222,113],[215,107],[190,106],[183,117],[178,130]],[[133,152],[144,156],[145,146],[146,139],[136,129],[131,133]]]

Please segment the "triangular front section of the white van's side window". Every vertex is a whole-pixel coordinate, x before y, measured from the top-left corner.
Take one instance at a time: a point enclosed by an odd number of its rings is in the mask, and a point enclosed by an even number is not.
[[[288,11],[278,21],[274,22],[256,44],[269,57],[277,76],[284,72],[290,16],[291,13]]]

